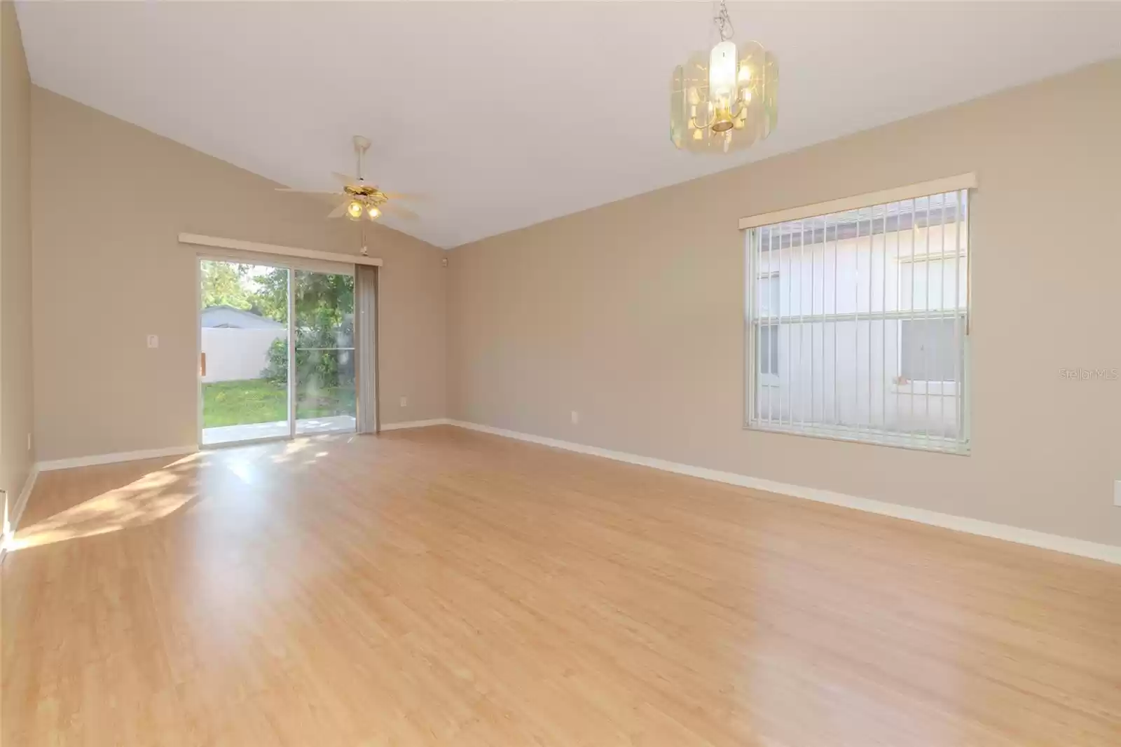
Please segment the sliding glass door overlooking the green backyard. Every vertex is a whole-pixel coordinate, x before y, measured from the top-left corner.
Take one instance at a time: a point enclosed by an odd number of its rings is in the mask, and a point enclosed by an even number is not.
[[[354,432],[354,276],[200,260],[201,442]]]

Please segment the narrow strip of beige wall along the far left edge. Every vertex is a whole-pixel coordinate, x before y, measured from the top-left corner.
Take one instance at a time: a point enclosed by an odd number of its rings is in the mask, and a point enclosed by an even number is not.
[[[0,2],[0,488],[12,505],[34,461],[30,95],[16,10]]]

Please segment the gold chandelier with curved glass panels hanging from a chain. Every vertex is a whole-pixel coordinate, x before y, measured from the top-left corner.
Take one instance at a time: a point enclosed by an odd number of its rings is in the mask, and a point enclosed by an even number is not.
[[[739,46],[728,6],[721,0],[713,22],[720,43],[695,52],[674,68],[669,93],[669,137],[682,150],[743,150],[778,123],[778,62],[758,42]]]

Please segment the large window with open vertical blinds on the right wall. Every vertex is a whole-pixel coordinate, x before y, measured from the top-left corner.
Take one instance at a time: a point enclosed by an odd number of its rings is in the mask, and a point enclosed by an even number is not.
[[[969,188],[839,203],[747,227],[747,426],[967,452]]]

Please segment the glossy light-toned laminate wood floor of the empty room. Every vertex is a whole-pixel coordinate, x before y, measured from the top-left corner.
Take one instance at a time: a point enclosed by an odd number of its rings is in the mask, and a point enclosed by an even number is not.
[[[1121,745],[1121,568],[453,427],[44,473],[2,745]]]

